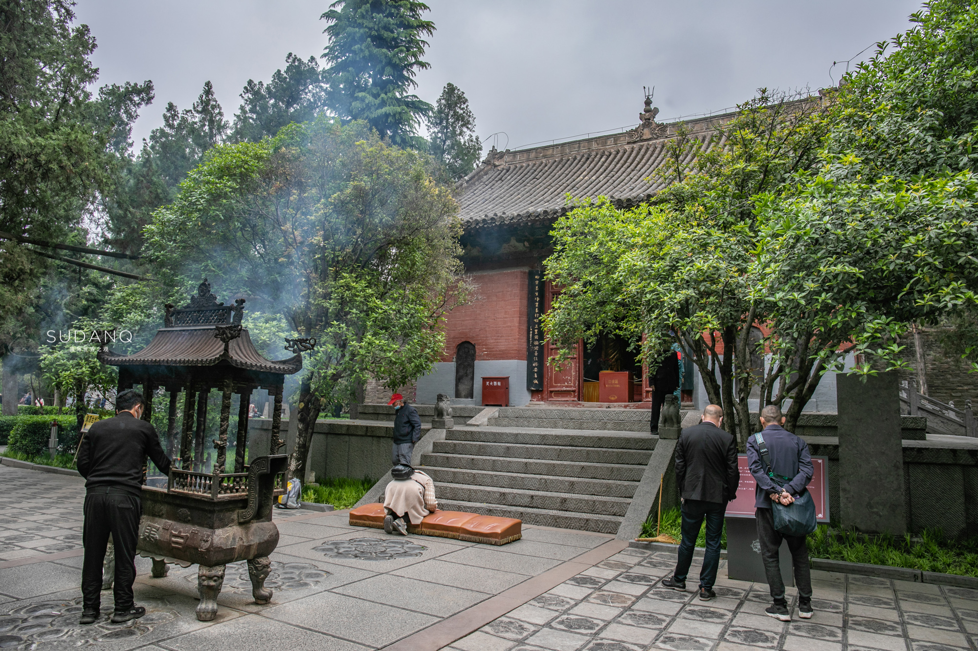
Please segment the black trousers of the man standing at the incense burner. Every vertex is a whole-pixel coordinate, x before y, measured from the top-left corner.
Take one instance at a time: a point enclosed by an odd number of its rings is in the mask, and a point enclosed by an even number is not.
[[[85,496],[85,526],[82,533],[85,562],[81,567],[81,594],[85,608],[97,609],[102,603],[102,563],[106,558],[109,534],[115,547],[115,583],[112,587],[115,611],[132,608],[136,542],[142,512],[142,500],[119,489],[90,489]]]

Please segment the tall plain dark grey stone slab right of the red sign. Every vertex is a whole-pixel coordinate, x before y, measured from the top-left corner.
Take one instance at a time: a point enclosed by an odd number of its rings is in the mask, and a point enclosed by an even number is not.
[[[900,393],[895,372],[836,377],[841,524],[907,532]]]

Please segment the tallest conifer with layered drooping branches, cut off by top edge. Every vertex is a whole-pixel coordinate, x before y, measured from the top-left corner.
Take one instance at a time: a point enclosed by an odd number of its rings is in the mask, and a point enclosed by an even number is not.
[[[330,84],[329,106],[343,119],[366,120],[398,147],[423,149],[416,135],[431,105],[409,91],[434,23],[422,19],[427,5],[416,0],[337,0],[322,20],[330,44],[323,55]]]

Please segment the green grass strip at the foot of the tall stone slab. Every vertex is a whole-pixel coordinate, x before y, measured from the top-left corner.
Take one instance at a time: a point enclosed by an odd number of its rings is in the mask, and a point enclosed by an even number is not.
[[[808,553],[813,558],[978,577],[978,538],[952,541],[939,529],[925,530],[919,539],[912,539],[910,535],[867,537],[819,525],[808,537]]]

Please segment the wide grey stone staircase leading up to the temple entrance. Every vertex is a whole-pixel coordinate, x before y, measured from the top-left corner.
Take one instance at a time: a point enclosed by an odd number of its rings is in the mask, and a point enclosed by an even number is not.
[[[657,441],[645,410],[502,408],[456,420],[422,465],[442,508],[614,534]]]

